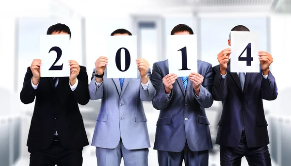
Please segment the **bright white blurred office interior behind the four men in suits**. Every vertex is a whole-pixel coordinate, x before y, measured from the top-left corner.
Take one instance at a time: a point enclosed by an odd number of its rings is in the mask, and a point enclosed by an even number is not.
[[[232,27],[242,24],[259,33],[259,49],[271,53],[271,71],[278,86],[275,101],[264,101],[274,166],[291,163],[291,0],[8,0],[0,1],[0,166],[28,166],[26,147],[34,104],[25,105],[19,93],[26,69],[39,54],[39,35],[50,25],[64,23],[72,32],[71,59],[91,73],[99,56],[106,56],[106,37],[125,28],[137,35],[138,57],[150,66],[167,59],[167,35],[177,24],[197,34],[198,59],[218,65],[217,54],[228,48]],[[144,102],[151,146],[159,111]],[[91,143],[100,100],[80,106]],[[215,144],[222,104],[207,109],[213,149],[209,166],[219,166]],[[150,148],[149,166],[158,166]],[[97,166],[95,147],[83,150],[83,166]],[[122,163],[123,166],[123,163]],[[245,158],[242,166],[247,166]]]

